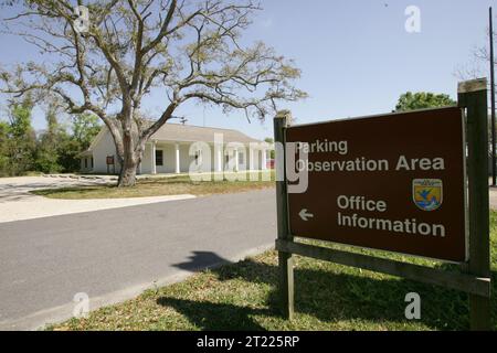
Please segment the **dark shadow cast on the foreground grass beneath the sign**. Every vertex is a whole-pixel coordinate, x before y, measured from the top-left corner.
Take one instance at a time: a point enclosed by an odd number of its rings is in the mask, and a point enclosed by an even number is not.
[[[187,270],[202,266],[229,263],[210,252],[195,252],[189,261],[176,265]],[[313,263],[313,264],[317,264]],[[322,263],[321,263],[322,264]],[[322,322],[359,320],[374,330],[382,322],[409,324],[404,318],[405,295],[421,297],[421,323],[434,330],[467,330],[469,327],[467,297],[463,292],[438,286],[424,285],[393,277],[366,277],[359,270],[339,265],[326,269],[309,267],[309,263],[295,268],[295,311]],[[161,297],[159,304],[172,307],[197,327],[204,330],[264,330],[253,315],[281,319],[277,291],[278,268],[251,259],[211,269],[221,281],[239,279],[252,284],[269,285],[265,302],[267,309],[253,309],[232,303],[193,301]],[[493,295],[496,293],[497,272],[493,272]],[[494,297],[495,298],[495,297]],[[491,302],[493,328],[496,322],[496,302]],[[369,323],[368,323],[369,322]],[[378,324],[378,325],[377,325]],[[384,327],[384,325],[382,325]]]

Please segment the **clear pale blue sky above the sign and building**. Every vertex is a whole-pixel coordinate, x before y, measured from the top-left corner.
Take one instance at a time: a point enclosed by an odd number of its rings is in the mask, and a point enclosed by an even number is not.
[[[457,68],[473,62],[472,51],[486,45],[490,0],[261,0],[263,10],[244,34],[264,41],[295,61],[302,78],[295,86],[309,97],[282,103],[295,124],[390,113],[402,93],[427,90],[456,98]],[[420,10],[420,32],[410,33],[405,9]],[[497,17],[496,17],[497,19]],[[497,20],[496,20],[497,23]],[[0,34],[0,63],[36,57],[19,39]],[[40,60],[40,56],[38,56]],[[158,111],[161,97],[144,109]],[[195,104],[176,111],[189,125],[233,128],[254,138],[273,136],[273,122],[248,122],[242,111],[224,115]],[[34,113],[35,129],[45,127]]]

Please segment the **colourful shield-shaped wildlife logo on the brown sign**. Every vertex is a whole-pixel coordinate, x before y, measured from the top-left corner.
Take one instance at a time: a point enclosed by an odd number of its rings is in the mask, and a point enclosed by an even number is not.
[[[414,179],[412,199],[423,211],[435,211],[442,205],[443,185],[440,179]]]

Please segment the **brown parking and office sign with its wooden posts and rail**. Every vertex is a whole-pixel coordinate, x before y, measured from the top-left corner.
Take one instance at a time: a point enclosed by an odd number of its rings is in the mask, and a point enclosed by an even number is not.
[[[461,83],[458,100],[452,108],[300,126],[278,114],[276,249],[285,317],[294,312],[296,254],[464,291],[470,328],[489,329],[486,79]],[[305,173],[304,189],[294,188],[296,173]],[[456,263],[462,270],[300,237]]]

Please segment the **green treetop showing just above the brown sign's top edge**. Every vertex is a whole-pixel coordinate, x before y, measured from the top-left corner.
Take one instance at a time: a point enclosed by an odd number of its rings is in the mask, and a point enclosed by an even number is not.
[[[457,103],[448,95],[430,92],[408,92],[400,96],[395,111],[409,111],[425,108],[456,106]]]

